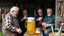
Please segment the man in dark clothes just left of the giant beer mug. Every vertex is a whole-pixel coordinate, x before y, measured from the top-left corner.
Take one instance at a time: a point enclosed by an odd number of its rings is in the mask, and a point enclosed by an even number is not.
[[[26,9],[24,9],[22,11],[22,16],[19,18],[19,23],[20,23],[19,25],[20,25],[20,28],[22,29],[22,33],[19,34],[19,36],[23,36],[24,33],[26,32],[25,21],[27,17],[28,17],[28,12]]]

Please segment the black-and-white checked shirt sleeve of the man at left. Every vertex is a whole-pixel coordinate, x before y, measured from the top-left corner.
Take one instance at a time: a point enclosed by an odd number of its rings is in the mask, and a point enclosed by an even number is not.
[[[4,24],[6,26],[6,29],[12,32],[16,32],[16,27],[14,27],[12,19],[12,15],[8,13],[7,15],[5,15]]]

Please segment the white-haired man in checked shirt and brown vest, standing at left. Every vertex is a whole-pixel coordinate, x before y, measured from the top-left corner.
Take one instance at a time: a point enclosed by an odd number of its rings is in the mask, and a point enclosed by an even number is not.
[[[13,6],[10,12],[5,15],[4,18],[4,36],[16,36],[17,33],[21,33],[22,30],[19,27],[18,20],[16,19],[19,8]]]

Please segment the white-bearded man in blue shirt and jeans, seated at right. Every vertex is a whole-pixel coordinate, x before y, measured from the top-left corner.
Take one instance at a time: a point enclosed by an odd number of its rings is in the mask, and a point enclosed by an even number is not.
[[[52,31],[51,26],[55,27],[55,15],[52,14],[52,9],[47,9],[47,15],[44,18],[42,26],[46,27],[44,31],[44,36],[49,36],[49,33]]]

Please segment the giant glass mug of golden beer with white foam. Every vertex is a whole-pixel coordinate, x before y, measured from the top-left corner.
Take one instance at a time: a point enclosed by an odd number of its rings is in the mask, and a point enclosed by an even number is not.
[[[35,34],[35,18],[29,17],[27,19],[27,34]]]

